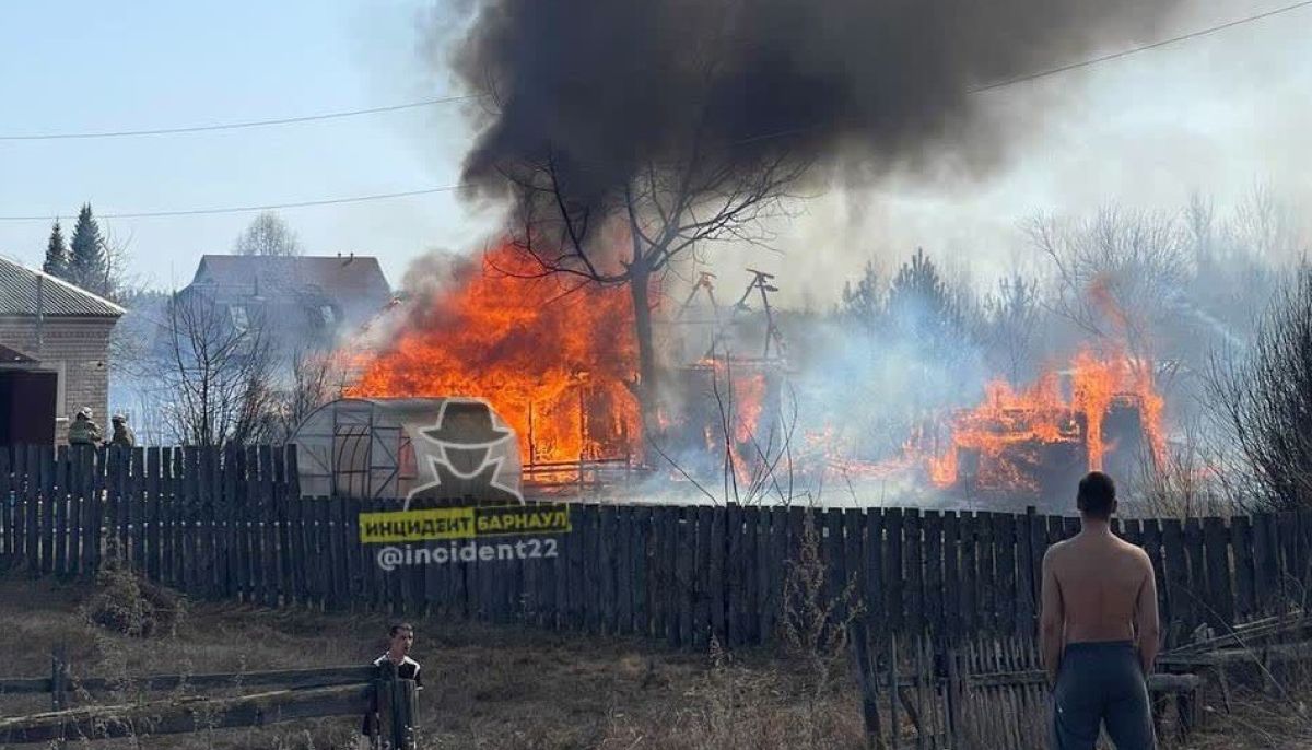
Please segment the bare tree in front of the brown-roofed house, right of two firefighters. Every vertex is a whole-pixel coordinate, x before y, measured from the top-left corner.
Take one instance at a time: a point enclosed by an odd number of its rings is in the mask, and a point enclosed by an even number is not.
[[[265,437],[274,357],[260,315],[243,308],[237,316],[202,292],[180,292],[169,300],[165,334],[160,376],[173,437],[195,446]]]

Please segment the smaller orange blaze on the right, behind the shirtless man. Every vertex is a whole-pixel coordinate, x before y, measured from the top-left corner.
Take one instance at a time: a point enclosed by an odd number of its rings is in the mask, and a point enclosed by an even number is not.
[[[1025,391],[1002,380],[985,387],[984,401],[955,414],[945,450],[917,441],[928,452],[930,481],[946,488],[960,481],[967,456],[980,489],[1040,490],[1038,473],[1060,463],[1078,463],[1081,471],[1105,468],[1115,442],[1109,442],[1109,417],[1134,414],[1139,434],[1153,458],[1165,452],[1162,399],[1152,384],[1152,368],[1123,354],[1099,358],[1080,351],[1067,372],[1069,399],[1060,374],[1046,372]],[[1115,425],[1119,426],[1119,425]]]

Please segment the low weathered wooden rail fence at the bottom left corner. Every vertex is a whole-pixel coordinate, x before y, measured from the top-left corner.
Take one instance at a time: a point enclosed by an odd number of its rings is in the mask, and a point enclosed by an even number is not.
[[[178,734],[237,726],[265,726],[325,716],[363,717],[377,711],[375,741],[413,746],[416,687],[390,665],[231,674],[165,674],[130,679],[73,678],[52,660],[50,678],[0,678],[0,699],[51,694],[55,711],[0,719],[0,746],[62,740]],[[240,696],[181,696],[163,700],[67,708],[68,696],[93,694],[269,688]]]

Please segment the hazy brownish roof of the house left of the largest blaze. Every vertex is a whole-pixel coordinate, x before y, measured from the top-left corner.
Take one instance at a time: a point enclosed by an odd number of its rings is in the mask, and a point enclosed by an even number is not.
[[[314,287],[328,296],[388,298],[391,287],[378,258],[366,256],[203,256],[193,285],[215,285],[269,291]]]

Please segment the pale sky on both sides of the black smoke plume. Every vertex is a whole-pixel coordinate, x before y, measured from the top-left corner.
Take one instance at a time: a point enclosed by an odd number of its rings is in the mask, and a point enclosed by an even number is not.
[[[1291,0],[1194,0],[1169,37]],[[454,13],[417,0],[7,3],[0,136],[178,127],[387,106],[461,93],[424,62],[424,26]],[[1256,184],[1312,205],[1312,7],[1211,37],[1009,87],[985,97],[1017,136],[988,174],[833,185],[778,227],[778,252],[720,253],[722,270],[781,274],[794,303],[828,304],[866,260],[916,247],[977,274],[1023,254],[1036,211],[1119,202],[1170,211],[1194,191],[1224,207]],[[451,35],[458,38],[458,30]],[[1107,50],[1114,51],[1114,50]],[[0,140],[0,254],[39,265],[50,222],[287,203],[454,185],[467,104],[358,118],[148,138]],[[476,250],[496,214],[458,194],[281,211],[312,254],[378,256],[399,285],[428,249]],[[110,219],[131,274],[184,286],[255,214]],[[68,231],[68,229],[66,229]],[[802,260],[806,262],[802,262]],[[806,269],[804,271],[800,269]],[[733,273],[722,283],[736,286]]]

